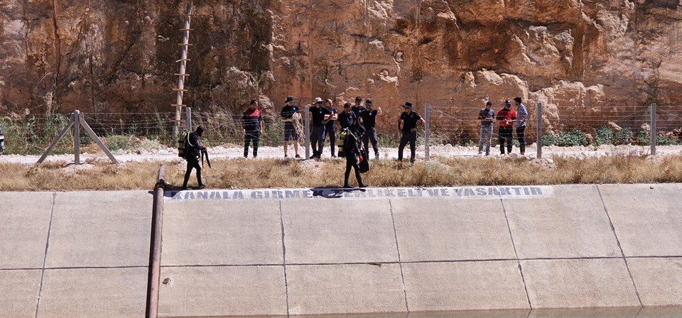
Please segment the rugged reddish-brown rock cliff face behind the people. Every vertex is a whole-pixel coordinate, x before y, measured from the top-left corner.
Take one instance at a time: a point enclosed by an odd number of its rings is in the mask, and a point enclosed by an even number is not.
[[[359,95],[391,130],[428,102],[462,135],[486,99],[523,97],[531,120],[542,102],[550,129],[682,104],[681,1],[193,2],[185,103],[202,111]],[[0,112],[173,111],[185,3],[4,1]]]

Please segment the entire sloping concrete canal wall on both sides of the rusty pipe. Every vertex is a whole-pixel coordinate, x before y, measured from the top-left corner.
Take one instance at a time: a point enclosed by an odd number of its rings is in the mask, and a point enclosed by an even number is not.
[[[682,306],[681,190],[166,192],[159,317]],[[144,315],[151,194],[0,199],[0,317]]]

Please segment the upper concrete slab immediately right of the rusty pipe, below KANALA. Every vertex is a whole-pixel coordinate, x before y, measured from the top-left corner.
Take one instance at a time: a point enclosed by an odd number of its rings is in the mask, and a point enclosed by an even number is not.
[[[279,202],[168,205],[161,265],[283,264]]]

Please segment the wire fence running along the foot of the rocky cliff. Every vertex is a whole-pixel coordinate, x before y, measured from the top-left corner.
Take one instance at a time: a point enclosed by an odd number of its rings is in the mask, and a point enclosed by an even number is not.
[[[462,109],[460,106],[430,106],[427,131],[418,133],[418,144],[433,146],[452,144],[474,146],[479,142],[480,121],[477,119],[480,109]],[[542,118],[538,121],[538,108],[528,105],[529,116],[526,121],[526,143],[537,143],[543,146],[587,146],[600,144],[638,144],[651,146],[651,126],[654,125],[655,145],[676,145],[682,143],[682,106],[656,106],[652,121],[650,106],[590,107],[584,109],[543,109]],[[499,111],[499,109],[493,109]],[[308,114],[303,112],[303,118]],[[262,111],[264,131],[261,131],[261,145],[281,146],[283,144],[283,123],[278,112]],[[146,138],[162,145],[175,146],[173,126],[175,113],[81,113],[85,121],[105,144]],[[71,114],[48,113],[23,117],[0,118],[8,154],[40,154],[55,139],[67,124]],[[206,131],[203,138],[207,145],[237,145],[244,143],[242,131],[242,114],[229,111],[191,113],[193,127],[202,125]],[[396,119],[385,120],[394,122]],[[538,134],[538,124],[541,131]],[[393,126],[377,127],[379,143],[382,147],[396,147],[400,136]],[[495,125],[492,146],[497,145],[498,126]],[[90,143],[87,134],[81,134],[82,143]],[[428,136],[428,143],[427,143]],[[516,137],[516,136],[514,136]],[[539,138],[538,138],[539,137]],[[55,150],[55,153],[69,153],[73,150],[72,133],[67,133]],[[305,136],[301,140],[305,142]],[[518,143],[518,141],[515,141]],[[109,145],[107,145],[109,147]],[[112,145],[113,148],[125,148],[125,145]]]

